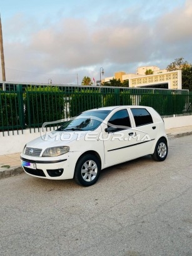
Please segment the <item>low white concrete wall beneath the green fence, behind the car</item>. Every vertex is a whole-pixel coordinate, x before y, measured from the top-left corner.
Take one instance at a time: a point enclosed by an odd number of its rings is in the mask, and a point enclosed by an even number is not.
[[[166,129],[171,128],[178,128],[182,126],[192,126],[192,116],[176,116],[173,118],[164,118],[164,125]],[[31,133],[29,130],[19,131],[19,134],[15,131],[14,135],[12,132],[4,133],[5,136],[3,136],[3,133],[0,133],[0,155],[7,155],[12,153],[18,153],[23,150],[24,145],[28,141],[34,140],[35,138],[38,138],[41,136],[40,130],[38,131],[36,129],[36,132],[34,130],[31,130]]]

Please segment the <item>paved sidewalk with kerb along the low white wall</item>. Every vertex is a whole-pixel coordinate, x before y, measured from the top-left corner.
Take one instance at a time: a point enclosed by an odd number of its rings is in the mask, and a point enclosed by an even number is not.
[[[184,126],[166,130],[168,138],[177,138],[191,135],[192,126]],[[20,153],[0,156],[0,179],[23,173],[21,167]]]

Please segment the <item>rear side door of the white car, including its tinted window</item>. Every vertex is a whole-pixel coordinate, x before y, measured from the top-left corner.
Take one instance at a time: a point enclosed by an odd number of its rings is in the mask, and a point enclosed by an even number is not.
[[[146,108],[131,108],[134,118],[137,156],[151,154],[155,139],[158,136],[159,126],[153,122],[153,117]]]

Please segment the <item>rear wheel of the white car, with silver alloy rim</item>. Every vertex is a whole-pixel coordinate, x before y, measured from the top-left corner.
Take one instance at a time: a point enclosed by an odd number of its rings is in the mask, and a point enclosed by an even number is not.
[[[152,158],[155,161],[164,161],[167,155],[168,155],[168,143],[164,138],[160,138],[156,143]]]

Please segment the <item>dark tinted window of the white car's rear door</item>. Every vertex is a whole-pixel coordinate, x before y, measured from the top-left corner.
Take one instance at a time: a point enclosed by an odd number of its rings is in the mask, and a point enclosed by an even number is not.
[[[153,123],[153,118],[146,108],[131,108],[136,126]]]

